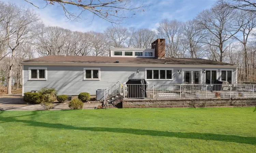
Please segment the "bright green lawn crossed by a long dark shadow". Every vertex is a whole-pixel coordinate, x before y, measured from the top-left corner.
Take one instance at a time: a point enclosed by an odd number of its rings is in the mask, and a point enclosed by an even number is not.
[[[253,110],[1,111],[0,152],[255,152]]]

